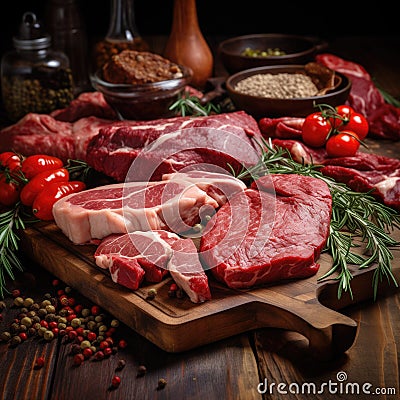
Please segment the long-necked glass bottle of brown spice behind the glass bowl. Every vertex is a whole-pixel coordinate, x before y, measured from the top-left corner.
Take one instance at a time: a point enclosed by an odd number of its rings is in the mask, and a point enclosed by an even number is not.
[[[94,48],[95,70],[122,50],[148,51],[148,43],[136,27],[134,0],[111,0],[108,32]]]

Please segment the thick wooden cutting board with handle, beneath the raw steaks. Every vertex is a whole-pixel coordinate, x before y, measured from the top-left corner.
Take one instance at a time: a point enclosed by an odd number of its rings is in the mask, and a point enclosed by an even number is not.
[[[395,236],[400,238],[399,232]],[[373,296],[375,268],[355,270],[353,298],[340,299],[334,279],[318,281],[331,267],[323,254],[316,276],[251,290],[233,290],[210,278],[212,300],[194,304],[187,297],[170,298],[171,278],[132,292],[114,283],[94,263],[93,245],[73,245],[53,224],[37,224],[21,237],[25,254],[103,307],[120,321],[167,352],[181,352],[245,331],[264,327],[296,331],[309,340],[310,350],[328,359],[351,347],[357,323],[338,312]],[[393,250],[393,272],[400,282],[400,249]],[[149,288],[157,295],[147,299]],[[383,281],[379,294],[397,290]]]

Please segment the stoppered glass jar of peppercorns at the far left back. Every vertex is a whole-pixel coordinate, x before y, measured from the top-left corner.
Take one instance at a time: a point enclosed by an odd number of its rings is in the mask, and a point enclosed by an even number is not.
[[[1,60],[1,89],[7,117],[17,121],[27,113],[48,114],[66,107],[74,98],[69,59],[51,48],[51,37],[43,31],[36,15],[26,12],[15,50]]]

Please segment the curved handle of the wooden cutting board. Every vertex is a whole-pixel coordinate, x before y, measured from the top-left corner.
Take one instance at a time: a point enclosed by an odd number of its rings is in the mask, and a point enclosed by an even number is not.
[[[274,293],[273,301],[268,299],[256,310],[260,327],[302,334],[309,340],[310,351],[320,359],[332,359],[348,350],[357,333],[354,320],[323,306],[317,299],[302,301]]]

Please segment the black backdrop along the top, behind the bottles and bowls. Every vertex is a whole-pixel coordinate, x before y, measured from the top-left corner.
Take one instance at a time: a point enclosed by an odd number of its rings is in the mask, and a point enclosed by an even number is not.
[[[0,51],[12,48],[22,14],[33,11],[44,19],[49,0],[3,1],[0,6]],[[173,0],[132,0],[139,32],[168,35]],[[107,33],[110,0],[77,0],[89,41]],[[337,36],[399,35],[397,12],[389,2],[197,0],[200,28],[205,37],[251,33],[296,33],[330,40]],[[400,49],[399,49],[400,50]]]

